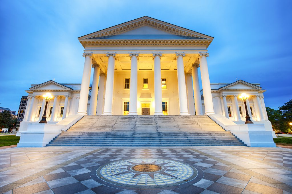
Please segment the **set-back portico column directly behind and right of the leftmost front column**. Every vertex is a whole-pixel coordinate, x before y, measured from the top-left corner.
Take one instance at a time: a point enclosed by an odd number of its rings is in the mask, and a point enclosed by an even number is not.
[[[96,106],[97,106],[97,94],[98,94],[98,82],[99,82],[99,73],[100,66],[98,64],[93,64],[93,79],[91,87],[91,97],[88,115],[96,115]]]

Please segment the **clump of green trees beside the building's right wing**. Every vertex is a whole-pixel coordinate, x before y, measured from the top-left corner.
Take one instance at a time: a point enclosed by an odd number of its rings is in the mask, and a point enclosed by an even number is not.
[[[271,121],[273,128],[276,131],[284,133],[292,133],[292,99],[279,107],[279,110],[274,110],[266,107],[269,121]]]

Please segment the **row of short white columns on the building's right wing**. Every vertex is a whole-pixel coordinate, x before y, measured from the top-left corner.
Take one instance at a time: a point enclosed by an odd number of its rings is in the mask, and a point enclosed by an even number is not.
[[[231,98],[232,104],[234,104],[235,117],[236,117],[235,120],[236,121],[242,121],[242,119],[240,117],[240,111],[239,111],[239,104],[238,104],[237,96],[238,95],[231,95],[229,97]],[[220,96],[220,98],[222,98],[222,101],[223,101],[223,109],[224,109],[225,117],[227,119],[229,119],[226,97],[227,97],[227,95]],[[265,103],[264,103],[264,100],[263,100],[263,96],[253,95],[253,96],[251,96],[251,98],[253,98],[254,105],[256,106],[256,110],[257,110],[257,113],[258,113],[259,121],[267,120],[268,119],[267,116],[264,115],[264,114],[266,114],[266,111],[264,111],[264,109],[263,109],[263,108],[265,108]],[[247,106],[248,114],[251,116],[251,109],[250,109],[250,104],[249,104],[249,100],[248,99],[246,100],[246,106]],[[242,107],[241,111],[245,112],[245,108]],[[256,113],[254,112],[254,114],[256,114]],[[252,117],[251,117],[251,120],[253,120]]]

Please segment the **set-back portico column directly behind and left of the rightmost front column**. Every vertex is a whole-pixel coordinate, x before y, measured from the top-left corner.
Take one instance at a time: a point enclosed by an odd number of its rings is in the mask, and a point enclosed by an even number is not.
[[[199,85],[198,67],[200,67],[199,64],[192,65],[192,77],[193,77],[196,115],[201,115],[203,114],[203,109],[202,109],[202,100],[201,100],[200,85]]]

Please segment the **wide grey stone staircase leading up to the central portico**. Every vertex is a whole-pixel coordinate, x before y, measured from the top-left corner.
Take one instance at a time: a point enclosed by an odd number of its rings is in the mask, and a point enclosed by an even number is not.
[[[84,116],[47,146],[245,146],[205,115]]]

